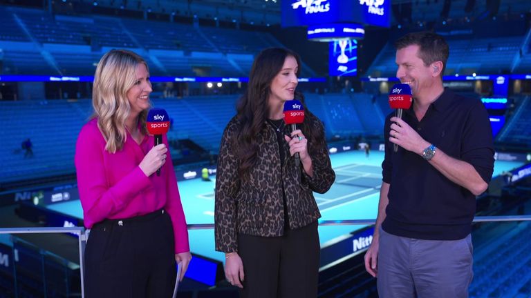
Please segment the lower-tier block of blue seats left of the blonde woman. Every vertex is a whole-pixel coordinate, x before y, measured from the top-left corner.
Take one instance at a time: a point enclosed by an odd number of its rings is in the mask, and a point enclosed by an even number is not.
[[[1,101],[0,106],[4,125],[0,162],[6,169],[1,171],[0,181],[72,172],[75,136],[86,115],[67,101]],[[21,149],[26,138],[32,142],[31,158],[25,158]]]

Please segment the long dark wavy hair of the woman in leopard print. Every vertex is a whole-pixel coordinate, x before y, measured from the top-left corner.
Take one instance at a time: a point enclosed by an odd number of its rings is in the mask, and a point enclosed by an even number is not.
[[[241,158],[238,169],[238,175],[241,179],[245,177],[245,174],[257,161],[259,149],[257,137],[265,127],[265,121],[268,119],[268,99],[271,91],[271,83],[274,77],[282,70],[286,57],[293,57],[297,60],[297,65],[299,66],[297,77],[299,77],[301,72],[301,59],[296,52],[286,48],[267,48],[262,50],[252,63],[248,87],[236,105],[237,117],[241,125],[238,137],[233,139],[233,141],[235,142],[234,148],[236,148],[238,156]],[[301,101],[304,106],[306,117],[301,126],[301,130],[308,138],[309,150],[310,143],[317,145],[317,143],[324,141],[324,137],[319,138],[318,129],[311,125],[317,119],[306,108],[304,96],[300,92],[295,91],[295,99]]]

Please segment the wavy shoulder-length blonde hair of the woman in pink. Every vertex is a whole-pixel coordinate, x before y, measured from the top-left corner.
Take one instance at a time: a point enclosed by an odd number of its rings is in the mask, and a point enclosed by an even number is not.
[[[111,50],[97,63],[92,87],[94,114],[91,118],[97,117],[97,126],[106,141],[107,152],[122,150],[127,140],[125,121],[131,112],[127,91],[136,83],[136,67],[140,63],[149,72],[146,61],[129,50]],[[143,110],[138,122],[144,135],[147,135],[146,119],[147,110]]]

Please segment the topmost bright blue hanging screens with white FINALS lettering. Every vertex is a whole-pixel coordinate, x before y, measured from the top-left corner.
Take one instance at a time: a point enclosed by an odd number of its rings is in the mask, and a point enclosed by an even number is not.
[[[391,24],[391,0],[283,0],[282,26],[324,23]]]

